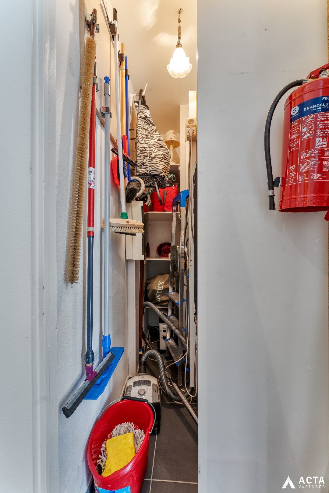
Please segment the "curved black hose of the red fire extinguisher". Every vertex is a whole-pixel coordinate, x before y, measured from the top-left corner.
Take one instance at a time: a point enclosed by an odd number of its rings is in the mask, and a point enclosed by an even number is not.
[[[267,173],[267,185],[269,191],[269,206],[268,206],[269,211],[275,210],[274,193],[273,193],[274,181],[273,181],[271,151],[270,151],[270,130],[271,130],[273,113],[282,96],[284,96],[284,94],[286,94],[286,92],[288,92],[293,87],[301,86],[303,83],[304,83],[303,79],[294,80],[286,87],[284,87],[273,101],[266,118],[265,132],[264,132],[264,150],[265,150],[265,163],[266,163],[266,173]]]

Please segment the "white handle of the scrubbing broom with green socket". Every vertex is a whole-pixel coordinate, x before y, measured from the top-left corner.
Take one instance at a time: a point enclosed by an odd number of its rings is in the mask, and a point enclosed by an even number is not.
[[[113,24],[117,29],[117,13],[113,8]],[[119,175],[120,175],[120,197],[121,197],[121,214],[126,214],[126,198],[123,176],[123,159],[122,159],[122,140],[121,140],[121,117],[120,117],[120,95],[119,95],[119,57],[118,57],[118,35],[114,35],[114,68],[115,68],[115,106],[116,106],[116,129],[119,154]],[[128,217],[128,216],[127,216]]]

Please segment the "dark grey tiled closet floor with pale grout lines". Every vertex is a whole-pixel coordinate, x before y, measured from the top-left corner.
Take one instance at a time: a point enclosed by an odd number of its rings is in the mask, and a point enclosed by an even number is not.
[[[156,375],[157,365],[147,366]],[[160,433],[150,437],[142,493],[197,493],[197,481],[197,425],[184,406],[162,399]]]

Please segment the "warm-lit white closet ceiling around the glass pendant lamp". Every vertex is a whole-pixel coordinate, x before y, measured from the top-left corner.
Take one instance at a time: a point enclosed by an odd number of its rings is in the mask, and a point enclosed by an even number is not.
[[[196,0],[116,0],[118,33],[125,43],[134,90],[146,89],[146,103],[160,134],[180,132],[180,105],[196,90]],[[167,70],[178,39],[181,14],[182,45],[193,65],[182,79]]]

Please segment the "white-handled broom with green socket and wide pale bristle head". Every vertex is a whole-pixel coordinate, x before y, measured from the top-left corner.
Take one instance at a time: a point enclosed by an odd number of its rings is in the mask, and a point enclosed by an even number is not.
[[[117,31],[117,12],[113,8],[113,24]],[[121,141],[121,117],[120,117],[120,94],[119,94],[119,66],[118,66],[118,39],[117,34],[114,36],[114,67],[115,67],[115,106],[116,106],[116,128],[118,141],[119,157],[119,174],[120,174],[120,197],[121,197],[121,215],[120,218],[110,219],[110,231],[123,235],[135,236],[137,233],[144,233],[144,224],[140,221],[128,219],[126,212],[125,186],[123,176],[123,158],[122,158],[122,141]]]

